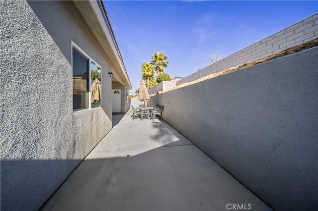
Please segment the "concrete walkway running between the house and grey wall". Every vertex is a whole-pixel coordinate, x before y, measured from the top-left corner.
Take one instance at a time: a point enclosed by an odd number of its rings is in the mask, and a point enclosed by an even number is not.
[[[113,129],[41,210],[271,210],[167,123],[131,114],[113,115]]]

